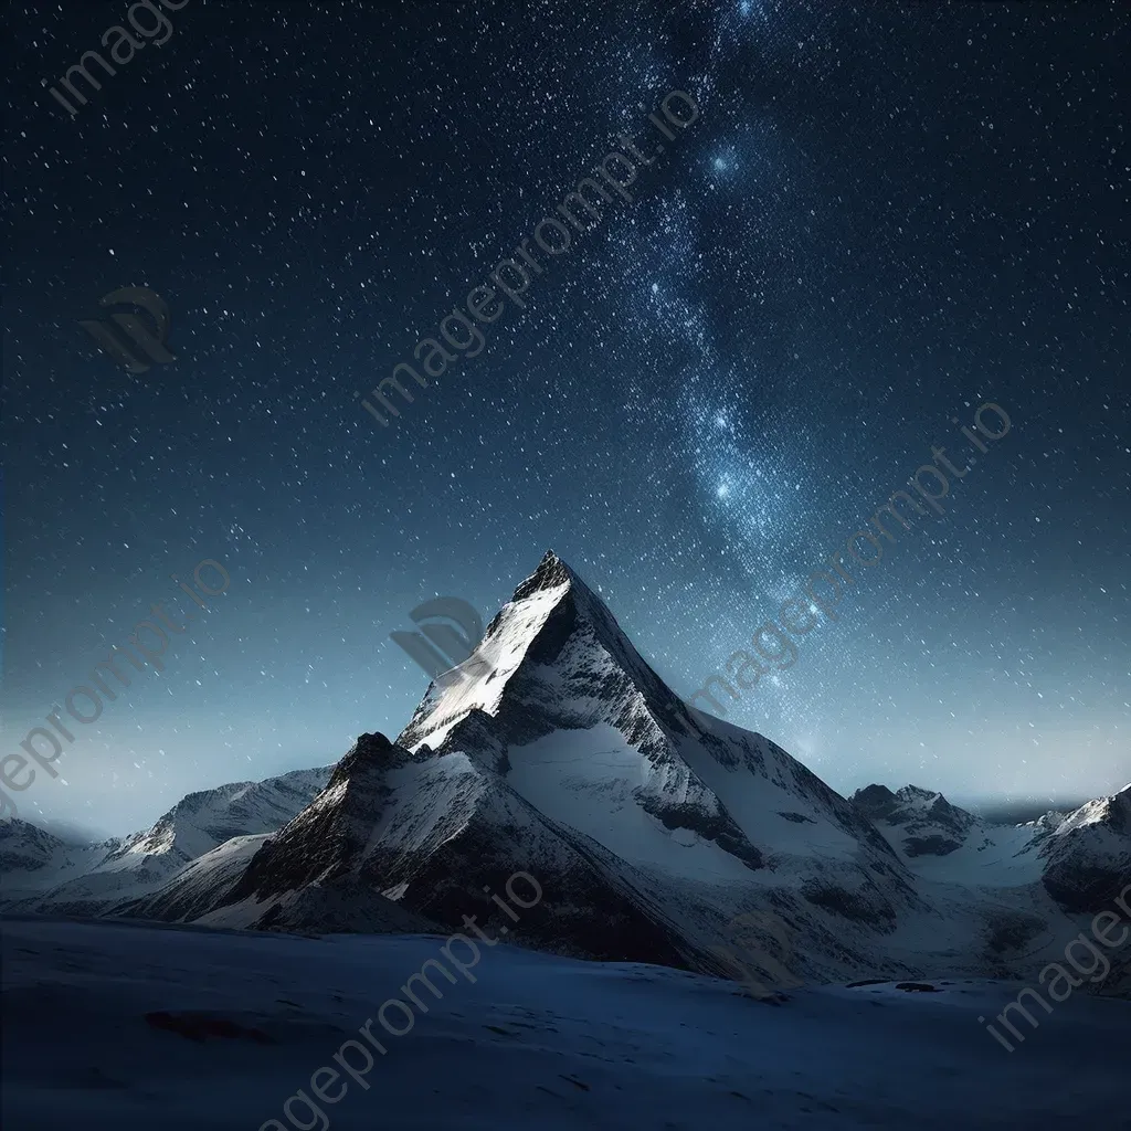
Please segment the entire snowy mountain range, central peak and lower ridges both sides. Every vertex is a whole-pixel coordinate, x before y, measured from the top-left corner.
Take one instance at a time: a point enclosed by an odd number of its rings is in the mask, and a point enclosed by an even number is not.
[[[767,981],[1028,978],[1131,884],[1131,786],[1021,824],[916,786],[845,798],[684,703],[553,553],[473,659],[395,742],[190,794],[124,840],[10,821],[0,906],[313,932],[475,915],[539,950],[724,976],[742,920]],[[544,896],[511,923],[491,893],[519,870]],[[1119,961],[1106,992],[1131,985]]]

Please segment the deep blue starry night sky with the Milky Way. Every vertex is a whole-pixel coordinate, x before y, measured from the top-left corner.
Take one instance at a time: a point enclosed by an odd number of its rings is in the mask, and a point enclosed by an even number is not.
[[[154,603],[185,627],[21,817],[122,834],[396,734],[389,633],[551,547],[691,696],[986,402],[944,513],[727,717],[841,793],[1131,780],[1121,5],[190,0],[71,116],[42,80],[127,7],[8,20],[0,753]],[[621,131],[665,146],[632,201],[381,428],[355,394]],[[175,361],[80,328],[126,286]]]

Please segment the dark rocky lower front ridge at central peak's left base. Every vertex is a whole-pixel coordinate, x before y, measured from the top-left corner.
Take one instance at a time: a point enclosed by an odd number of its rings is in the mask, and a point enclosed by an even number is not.
[[[472,720],[473,727],[476,720]],[[452,732],[452,740],[463,724]],[[544,906],[511,927],[485,888],[535,872]],[[511,939],[598,958],[647,955],[717,969],[632,886],[633,872],[554,826],[463,752],[413,756],[363,735],[326,792],[280,829],[200,922],[283,930],[374,930],[392,906],[461,925],[464,912],[501,920]]]

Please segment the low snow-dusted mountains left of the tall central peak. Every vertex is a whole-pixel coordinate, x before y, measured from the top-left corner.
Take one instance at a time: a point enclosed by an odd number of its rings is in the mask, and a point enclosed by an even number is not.
[[[70,915],[122,912],[233,837],[273,832],[326,785],[331,766],[190,793],[126,839],[68,845],[25,821],[0,826],[2,905]]]

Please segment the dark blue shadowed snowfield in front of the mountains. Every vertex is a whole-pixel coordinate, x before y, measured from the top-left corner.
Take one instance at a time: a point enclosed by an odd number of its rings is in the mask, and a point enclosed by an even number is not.
[[[8,1131],[291,1125],[284,1102],[309,1094],[312,1073],[336,1067],[342,1043],[404,998],[399,987],[443,942],[2,926]],[[411,1033],[385,1036],[370,1088],[349,1081],[339,1103],[320,1105],[329,1126],[1126,1125],[1122,1001],[1074,995],[1008,1053],[977,1018],[999,1013],[1019,984],[827,986],[774,1007],[734,983],[503,946],[484,949],[473,974],[474,984],[441,979],[443,1000],[428,996]],[[147,1022],[158,1011],[204,1015],[204,1035]],[[292,1110],[301,1126],[326,1126]]]

